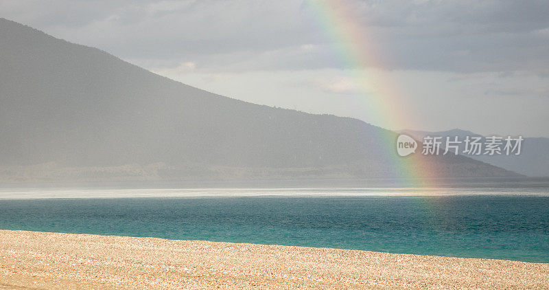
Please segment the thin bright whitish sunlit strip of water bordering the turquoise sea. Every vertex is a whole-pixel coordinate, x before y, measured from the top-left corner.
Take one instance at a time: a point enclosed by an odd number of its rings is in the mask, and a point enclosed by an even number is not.
[[[36,199],[178,199],[240,197],[549,197],[546,188],[528,188],[528,193],[506,188],[1,188],[0,201]]]

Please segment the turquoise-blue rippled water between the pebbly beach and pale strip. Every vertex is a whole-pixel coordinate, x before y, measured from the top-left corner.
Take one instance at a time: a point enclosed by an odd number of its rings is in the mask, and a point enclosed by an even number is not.
[[[549,263],[549,197],[170,197],[0,201],[0,228]]]

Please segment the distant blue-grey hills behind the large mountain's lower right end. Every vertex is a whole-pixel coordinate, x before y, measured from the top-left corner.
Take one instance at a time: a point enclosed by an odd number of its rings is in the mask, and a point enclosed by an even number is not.
[[[486,137],[471,131],[465,131],[460,129],[452,129],[449,131],[439,131],[439,132],[428,132],[428,131],[412,131],[404,130],[401,133],[410,135],[416,140],[423,140],[425,136],[431,137],[443,137],[443,146],[445,144],[446,137],[450,137],[451,140],[455,136],[458,136],[458,140],[465,140],[465,137],[481,137],[481,142],[486,142]],[[507,136],[500,136],[504,139]],[[511,136],[513,137],[513,136]],[[516,137],[516,136],[515,136]],[[465,145],[460,145],[459,153],[465,155],[463,150]],[[492,164],[513,172],[517,172],[528,177],[549,177],[549,138],[544,137],[535,137],[528,138],[525,137],[522,141],[521,152],[519,155],[467,155],[478,161],[485,162],[487,164]]]

